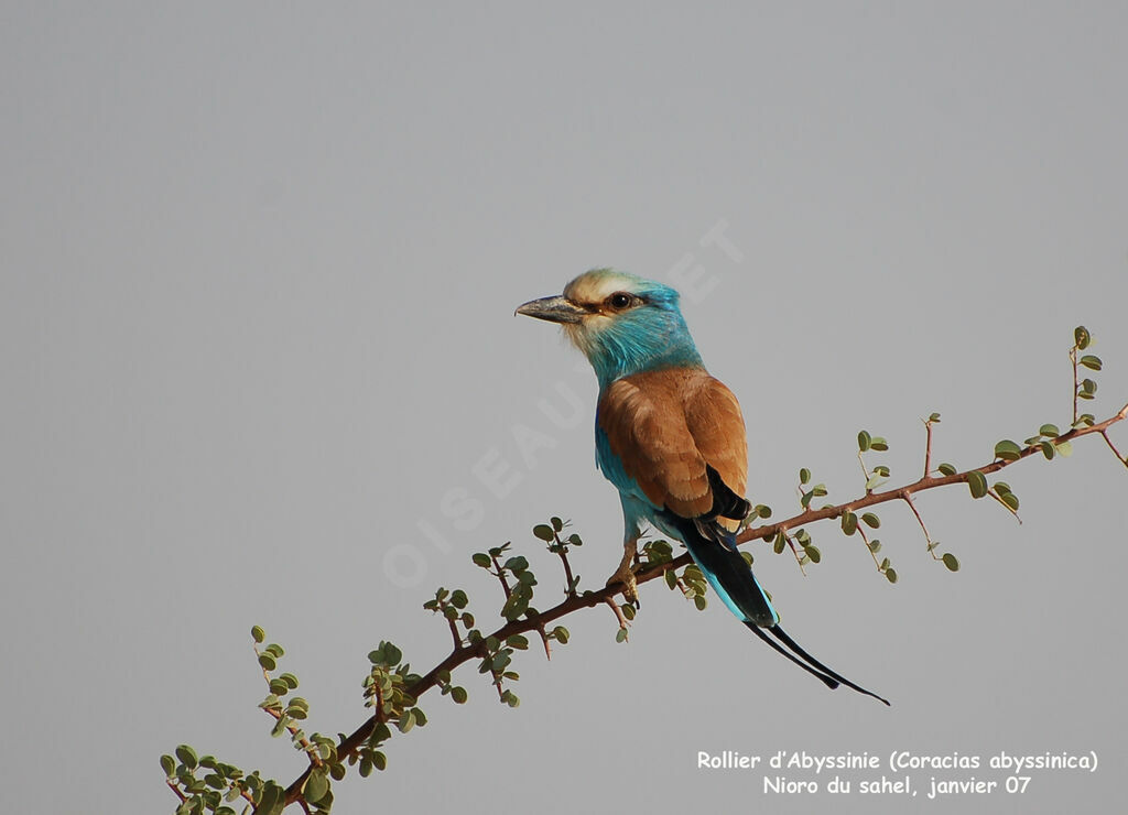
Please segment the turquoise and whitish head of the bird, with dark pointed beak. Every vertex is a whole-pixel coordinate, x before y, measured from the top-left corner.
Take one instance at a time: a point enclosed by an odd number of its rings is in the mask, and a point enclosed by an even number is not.
[[[601,384],[638,371],[702,364],[678,292],[624,272],[584,272],[563,294],[532,300],[517,313],[558,322]]]

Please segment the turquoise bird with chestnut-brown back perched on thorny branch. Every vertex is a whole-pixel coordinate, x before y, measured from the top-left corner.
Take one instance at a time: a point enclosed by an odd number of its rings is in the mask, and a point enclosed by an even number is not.
[[[783,630],[741,556],[735,533],[751,512],[744,419],[733,392],[706,371],[677,290],[594,268],[515,313],[558,324],[596,372],[596,466],[618,489],[624,520],[623,559],[608,585],[622,583],[637,602],[633,566],[652,526],[685,544],[724,605],[767,645],[831,690],[844,684],[889,705]]]

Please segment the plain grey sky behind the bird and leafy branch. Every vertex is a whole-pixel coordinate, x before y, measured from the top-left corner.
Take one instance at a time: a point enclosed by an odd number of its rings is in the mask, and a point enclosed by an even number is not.
[[[528,530],[561,514],[601,585],[622,520],[593,377],[512,317],[591,266],[677,282],[691,256],[710,291],[685,312],[777,515],[802,466],[861,490],[862,427],[902,481],[932,410],[960,466],[1068,424],[1078,322],[1105,360],[1093,411],[1128,399],[1121,5],[406,6],[3,5],[6,810],[171,812],[157,756],[180,742],[292,779],[252,623],[336,733],[381,638],[418,667],[447,653],[435,586],[491,618],[473,551],[513,540],[547,606]],[[729,251],[702,242],[722,222]],[[584,405],[569,427],[537,406],[566,411],[561,383]],[[526,461],[521,427],[555,446]],[[473,472],[491,457],[520,478],[504,498]],[[891,709],[652,585],[629,645],[600,609],[550,664],[520,658],[519,710],[464,670],[470,702],[426,699],[430,725],[337,810],[1107,812],[1128,472],[1090,438],[1006,480],[1022,525],[963,488],[919,498],[959,574],[904,507],[881,513],[897,586],[831,525],[807,578],[756,550],[793,636]],[[442,512],[459,488],[473,529]],[[394,546],[417,583],[389,578]],[[766,796],[699,750],[1101,765],[1022,797],[924,798],[931,774],[1006,774],[986,769],[915,772],[908,800]]]

